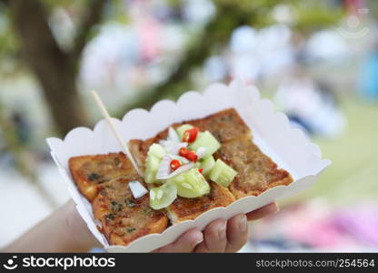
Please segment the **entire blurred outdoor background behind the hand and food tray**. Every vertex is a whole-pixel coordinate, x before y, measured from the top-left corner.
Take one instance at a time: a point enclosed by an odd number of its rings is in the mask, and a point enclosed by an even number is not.
[[[90,90],[122,117],[243,78],[333,161],[243,251],[376,251],[377,15],[374,0],[0,0],[0,247],[69,198],[45,137],[94,126]]]

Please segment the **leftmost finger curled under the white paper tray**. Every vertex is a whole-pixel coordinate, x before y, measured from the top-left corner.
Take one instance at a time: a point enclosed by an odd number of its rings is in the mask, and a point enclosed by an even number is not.
[[[191,229],[180,236],[180,238],[177,238],[174,243],[163,248],[158,248],[154,252],[192,252],[203,241],[203,233],[197,229]]]

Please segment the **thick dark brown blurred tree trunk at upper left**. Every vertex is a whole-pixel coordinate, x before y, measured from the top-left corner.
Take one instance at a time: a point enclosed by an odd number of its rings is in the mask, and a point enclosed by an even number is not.
[[[85,126],[86,116],[76,89],[72,58],[62,51],[37,0],[9,2],[25,61],[38,78],[58,131]]]

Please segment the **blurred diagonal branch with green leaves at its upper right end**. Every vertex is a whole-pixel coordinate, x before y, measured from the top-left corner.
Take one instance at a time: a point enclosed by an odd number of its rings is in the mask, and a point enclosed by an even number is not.
[[[290,10],[290,26],[303,34],[336,24],[342,12],[327,2],[303,0],[214,0],[216,14],[205,25],[203,33],[194,36],[185,49],[185,55],[175,67],[172,75],[159,86],[145,91],[130,105],[117,113],[123,116],[134,107],[148,108],[159,99],[176,99],[185,90],[192,88],[191,76],[195,69],[202,66],[205,59],[217,54],[227,45],[234,29],[241,25],[262,28],[277,22],[274,8],[286,6]]]

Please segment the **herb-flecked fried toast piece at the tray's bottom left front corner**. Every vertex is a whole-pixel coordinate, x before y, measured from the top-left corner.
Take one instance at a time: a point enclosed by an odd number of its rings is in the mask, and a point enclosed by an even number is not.
[[[99,194],[92,208],[110,245],[127,246],[136,238],[163,232],[168,225],[164,210],[149,207],[148,195],[133,197],[128,183],[134,178],[138,177],[118,178],[97,186]]]

